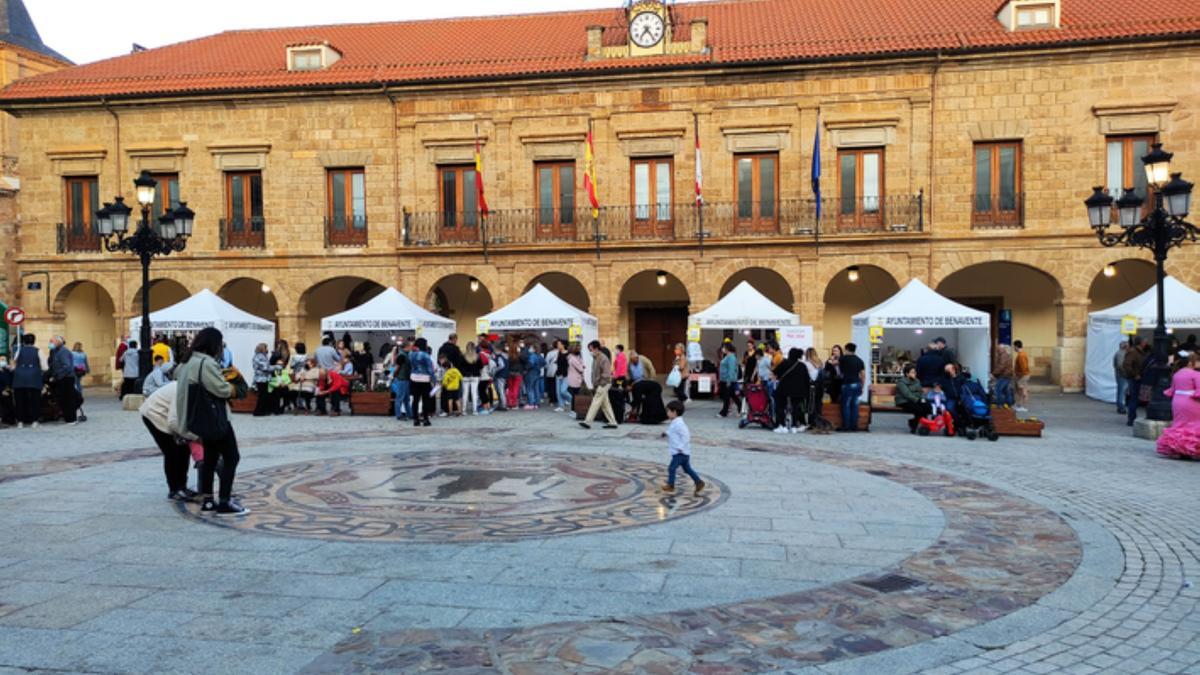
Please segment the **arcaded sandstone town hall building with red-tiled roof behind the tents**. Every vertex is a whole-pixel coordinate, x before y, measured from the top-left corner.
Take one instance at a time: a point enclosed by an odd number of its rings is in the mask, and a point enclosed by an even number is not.
[[[1024,1],[1009,5],[1021,11]],[[766,26],[800,5],[742,5],[738,20]],[[874,5],[863,11],[887,24],[887,12],[919,4]],[[1013,334],[1038,374],[1078,390],[1087,311],[1153,281],[1145,252],[1098,245],[1082,199],[1114,171],[1140,171],[1129,162],[1133,143],[1159,141],[1176,153],[1175,171],[1200,174],[1200,11],[1180,0],[1166,32],[1134,20],[1104,35],[1082,18],[1098,2],[1061,5],[1061,25],[1034,40],[1036,31],[1001,25],[990,2],[955,4],[955,12],[982,12],[970,19],[974,32],[955,38],[959,48],[924,48],[916,26],[886,52],[816,54],[824,42],[802,36],[773,59],[779,41],[744,35],[733,2],[642,2],[630,14],[383,24],[481,32],[503,46],[491,65],[473,66],[468,53],[444,77],[431,64],[449,56],[431,52],[421,67],[433,72],[421,77],[388,74],[383,64],[398,56],[359,54],[374,48],[376,35],[354,32],[383,29],[325,26],[222,34],[36,78],[0,94],[0,106],[20,118],[16,265],[46,273],[50,285],[47,299],[22,301],[43,331],[65,329],[108,350],[139,306],[139,270],[132,258],[67,235],[64,186],[86,178],[102,201],[124,193],[133,202],[132,178],[146,169],[178,177],[179,196],[197,213],[187,251],[154,264],[154,305],[208,287],[275,319],[289,340],[312,342],[323,316],[388,286],[473,333],[475,317],[541,281],[594,313],[608,342],[656,354],[683,339],[689,312],[746,280],[812,324],[828,348],[848,339],[851,315],[920,279],[994,313],[1012,310]],[[636,55],[626,44],[624,26],[644,11],[661,12],[668,26],[660,54]],[[505,71],[523,58],[505,41],[520,43],[540,20],[562,28],[560,48],[576,66]],[[253,86],[250,76],[226,72],[236,64],[191,84],[161,65],[205,49],[236,61],[242,38],[278,44],[275,70]],[[340,61],[318,74],[283,67],[292,50],[307,48],[328,48],[314,54]],[[766,55],[733,58],[751,48]],[[526,49],[553,60],[538,52],[551,47]],[[354,80],[367,77],[349,72],[355,56],[377,64],[373,80]],[[151,84],[130,90],[139,73]],[[589,132],[595,217],[582,189]],[[482,227],[473,225],[473,175],[463,173],[476,143],[491,207]],[[1123,168],[1109,161],[1114,143],[1126,144]],[[988,184],[980,172],[1015,185],[977,187]],[[341,229],[335,174],[347,181]],[[233,175],[260,181],[260,211],[242,204],[233,213]],[[241,214],[246,227],[234,231]],[[1200,249],[1184,247],[1169,273],[1200,286],[1198,262]],[[1109,264],[1114,276],[1102,274]]]

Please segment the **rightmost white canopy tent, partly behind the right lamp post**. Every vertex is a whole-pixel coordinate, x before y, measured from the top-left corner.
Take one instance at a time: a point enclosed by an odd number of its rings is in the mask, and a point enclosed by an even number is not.
[[[1174,276],[1163,283],[1163,301],[1166,307],[1166,328],[1175,331],[1200,331],[1200,293],[1184,286]],[[1117,347],[1128,338],[1121,333],[1121,319],[1138,319],[1138,335],[1151,338],[1158,324],[1158,287],[1126,300],[1115,307],[1087,315],[1087,395],[1102,401],[1115,401],[1117,396],[1116,374],[1112,357]]]

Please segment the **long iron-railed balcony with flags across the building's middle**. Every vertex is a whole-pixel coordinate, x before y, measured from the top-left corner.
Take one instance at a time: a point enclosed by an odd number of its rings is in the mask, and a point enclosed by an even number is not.
[[[646,241],[698,243],[811,239],[830,237],[911,234],[925,229],[924,195],[895,196],[865,203],[856,199],[785,199],[757,213],[746,204],[706,203],[604,207],[592,209],[502,209],[486,219],[478,213],[406,213],[402,245],[484,246],[502,249],[544,243],[606,244]]]

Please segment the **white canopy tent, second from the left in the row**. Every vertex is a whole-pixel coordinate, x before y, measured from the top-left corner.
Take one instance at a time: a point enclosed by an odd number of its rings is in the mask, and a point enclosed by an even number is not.
[[[320,319],[320,330],[335,335],[349,333],[356,342],[378,348],[397,336],[425,338],[437,350],[451,333],[455,322],[438,316],[395,288],[386,288],[366,303]]]

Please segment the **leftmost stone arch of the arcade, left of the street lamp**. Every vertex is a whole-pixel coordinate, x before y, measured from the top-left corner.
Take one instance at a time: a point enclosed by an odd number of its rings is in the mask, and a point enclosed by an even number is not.
[[[89,380],[107,382],[112,374],[110,357],[116,348],[116,340],[124,333],[118,333],[116,304],[112,293],[97,281],[71,281],[55,294],[53,312],[54,316],[62,317],[61,333],[67,346],[73,347],[76,342],[80,342],[88,353],[91,366]]]

